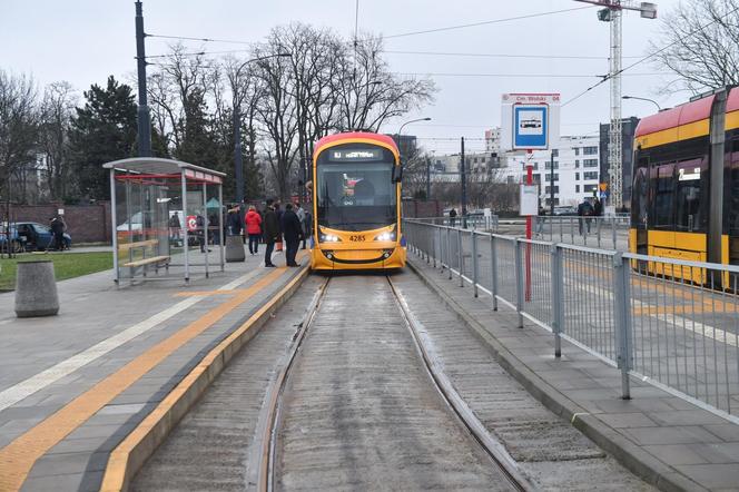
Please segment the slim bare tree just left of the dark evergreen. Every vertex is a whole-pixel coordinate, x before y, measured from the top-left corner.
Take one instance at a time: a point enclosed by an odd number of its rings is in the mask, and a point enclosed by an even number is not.
[[[39,150],[43,154],[43,174],[49,187],[49,198],[62,200],[72,187],[69,131],[77,96],[69,82],[47,86],[41,101]]]

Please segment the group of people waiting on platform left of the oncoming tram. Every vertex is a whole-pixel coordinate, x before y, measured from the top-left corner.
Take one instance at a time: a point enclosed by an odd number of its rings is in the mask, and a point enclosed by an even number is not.
[[[243,216],[240,207],[236,206],[228,210],[226,225],[228,234],[243,236],[246,242],[248,237],[249,254],[259,253],[259,243],[265,244],[265,267],[272,268],[276,265],[272,262],[275,245],[285,242],[285,263],[287,266],[299,266],[296,262],[297,250],[303,242],[311,236],[311,213],[300,204],[286,204],[283,209],[279,201],[268,199],[264,210],[259,211],[252,205],[246,215]],[[242,234],[244,232],[245,234]]]

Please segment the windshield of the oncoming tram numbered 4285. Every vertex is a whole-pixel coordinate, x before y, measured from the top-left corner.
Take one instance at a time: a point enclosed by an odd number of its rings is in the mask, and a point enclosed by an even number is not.
[[[392,152],[370,145],[332,147],[318,157],[318,225],[368,230],[397,222]]]

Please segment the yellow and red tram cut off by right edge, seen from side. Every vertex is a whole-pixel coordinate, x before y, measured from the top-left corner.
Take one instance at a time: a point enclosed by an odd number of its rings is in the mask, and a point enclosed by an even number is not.
[[[633,253],[739,265],[739,88],[639,122],[629,244]],[[707,282],[697,268],[657,268]]]

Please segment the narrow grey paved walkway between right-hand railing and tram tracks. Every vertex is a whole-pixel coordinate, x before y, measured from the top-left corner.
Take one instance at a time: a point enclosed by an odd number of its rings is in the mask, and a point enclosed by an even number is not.
[[[631,471],[663,490],[739,490],[739,425],[633,378],[632,400],[621,400],[612,365],[564,341],[555,358],[550,332],[518,328],[514,311],[493,312],[490,297],[408,258],[514,377]]]

